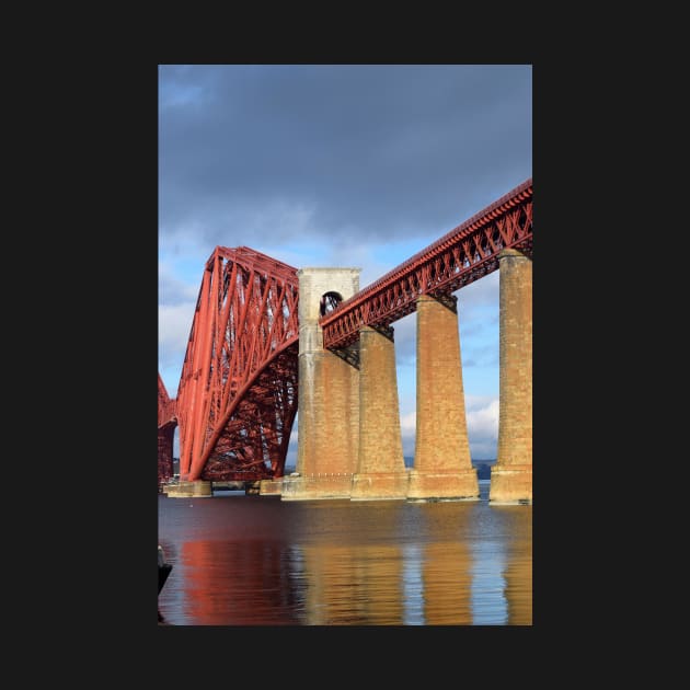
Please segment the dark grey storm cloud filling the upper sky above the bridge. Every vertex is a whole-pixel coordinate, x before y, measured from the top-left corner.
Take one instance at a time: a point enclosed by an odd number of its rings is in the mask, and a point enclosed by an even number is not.
[[[161,233],[446,232],[531,175],[529,66],[160,68]]]

